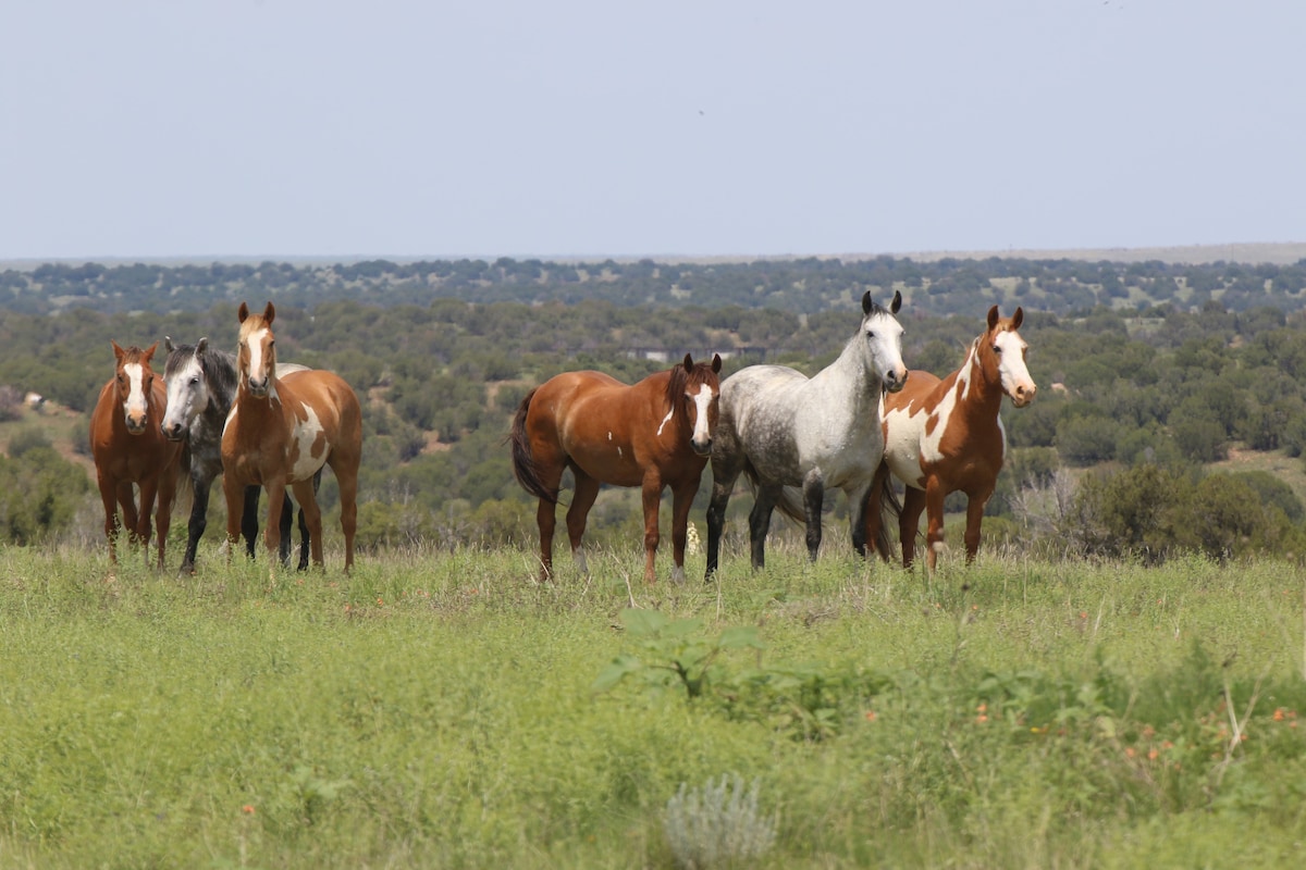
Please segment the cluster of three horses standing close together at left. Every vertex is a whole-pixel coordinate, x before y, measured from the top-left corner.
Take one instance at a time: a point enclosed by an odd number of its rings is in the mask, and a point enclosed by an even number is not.
[[[317,487],[329,466],[340,485],[340,523],[345,532],[345,570],[354,565],[358,468],[363,454],[363,413],[353,389],[337,374],[277,363],[268,303],[261,314],[242,303],[236,353],[197,344],[172,346],[159,378],[150,367],[158,344],[123,350],[114,343],[118,368],[91,412],[90,445],[104,503],[104,535],[112,575],[121,526],[145,548],[150,561],[150,513],[158,531],[157,566],[163,567],[172,501],[179,483],[192,488],[183,573],[195,571],[213,479],[222,473],[227,505],[227,558],[244,535],[255,553],[260,488],[268,492],[264,543],[272,570],[289,563],[293,506],[299,501],[299,567],[323,565],[321,510]],[[133,503],[133,484],[140,509]],[[270,522],[278,518],[278,522]]]

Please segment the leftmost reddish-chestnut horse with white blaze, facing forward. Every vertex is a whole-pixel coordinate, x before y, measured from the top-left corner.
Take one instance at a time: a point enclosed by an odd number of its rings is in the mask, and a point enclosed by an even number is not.
[[[159,430],[167,393],[163,380],[150,369],[158,343],[146,350],[125,351],[111,342],[118,357],[114,380],[99,391],[99,400],[90,415],[90,453],[95,459],[95,481],[104,502],[104,536],[108,537],[110,565],[118,565],[118,505],[123,507],[123,524],[132,543],[145,547],[145,565],[150,563],[150,511],[158,501],[154,524],[158,526],[158,567],[163,567],[163,549],[172,517],[180,466],[188,462],[183,446],[170,442]],[[141,490],[137,510],[132,484]]]

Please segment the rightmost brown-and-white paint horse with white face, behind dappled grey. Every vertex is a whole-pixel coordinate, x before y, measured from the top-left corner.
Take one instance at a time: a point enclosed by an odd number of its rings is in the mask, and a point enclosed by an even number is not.
[[[957,490],[966,494],[966,563],[980,550],[983,507],[1007,453],[998,416],[1002,397],[1010,395],[1023,408],[1038,391],[1025,368],[1028,344],[1016,331],[1024,317],[1020,308],[1011,317],[999,317],[994,305],[989,327],[970,346],[960,369],[942,381],[929,372],[912,372],[906,389],[884,400],[884,463],[876,472],[875,492],[888,483],[891,471],[906,485],[899,514],[904,567],[916,557],[916,533],[925,510],[925,560],[934,570],[943,548],[943,500]],[[866,533],[882,541],[878,549],[888,561],[880,526],[876,503],[867,511]]]

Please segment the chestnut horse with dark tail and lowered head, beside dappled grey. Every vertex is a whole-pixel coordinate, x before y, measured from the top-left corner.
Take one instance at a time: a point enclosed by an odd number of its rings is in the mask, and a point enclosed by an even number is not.
[[[601,484],[644,492],[644,580],[652,583],[658,545],[658,506],[671,488],[671,579],[684,582],[690,507],[699,492],[717,421],[721,357],[684,363],[635,386],[601,372],[558,374],[526,394],[512,421],[512,472],[539,500],[539,579],[554,570],[554,526],[563,471],[576,492],[567,510],[572,556],[585,571],[580,548],[585,518]]]

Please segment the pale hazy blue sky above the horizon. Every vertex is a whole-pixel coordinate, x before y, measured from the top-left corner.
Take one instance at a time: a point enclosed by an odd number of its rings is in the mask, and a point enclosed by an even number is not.
[[[14,0],[0,258],[1306,241],[1301,0]]]

